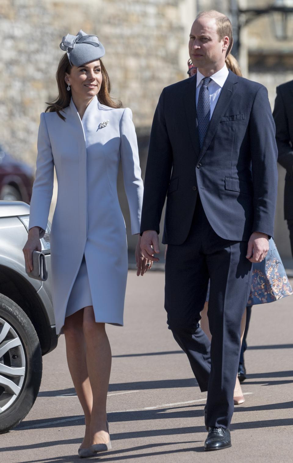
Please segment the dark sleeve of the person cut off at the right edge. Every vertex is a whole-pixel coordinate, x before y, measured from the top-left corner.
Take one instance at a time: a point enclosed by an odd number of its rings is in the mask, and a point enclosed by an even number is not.
[[[290,174],[293,173],[293,150],[292,140],[290,140],[288,115],[285,108],[281,89],[277,87],[277,96],[273,116],[276,125],[276,141],[278,147],[278,162]]]

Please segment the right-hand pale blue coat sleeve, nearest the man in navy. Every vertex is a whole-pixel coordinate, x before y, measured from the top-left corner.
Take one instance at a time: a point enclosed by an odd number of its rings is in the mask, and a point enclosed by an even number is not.
[[[120,137],[120,155],[124,188],[130,212],[131,233],[135,235],[140,232],[143,182],[141,179],[137,138],[132,122],[132,112],[129,108],[125,108],[122,114]]]

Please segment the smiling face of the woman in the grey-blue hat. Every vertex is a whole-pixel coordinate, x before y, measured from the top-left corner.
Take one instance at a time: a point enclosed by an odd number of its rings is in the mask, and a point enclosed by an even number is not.
[[[73,66],[70,74],[66,73],[65,76],[65,82],[70,85],[72,95],[85,99],[99,93],[102,80],[100,60],[79,67]]]

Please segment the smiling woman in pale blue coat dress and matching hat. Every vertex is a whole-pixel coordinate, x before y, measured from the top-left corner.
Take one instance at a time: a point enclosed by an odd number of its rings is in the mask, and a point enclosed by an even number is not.
[[[54,166],[58,197],[51,227],[52,294],[56,331],[64,332],[68,367],[85,413],[80,457],[110,449],[106,399],[111,350],[105,323],[123,325],[128,272],[125,222],[117,196],[122,162],[137,275],[152,263],[140,251],[143,183],[129,108],[111,100],[97,36],[79,31],[61,42],[59,96],[41,114],[37,172],[31,198],[26,266],[47,226]]]

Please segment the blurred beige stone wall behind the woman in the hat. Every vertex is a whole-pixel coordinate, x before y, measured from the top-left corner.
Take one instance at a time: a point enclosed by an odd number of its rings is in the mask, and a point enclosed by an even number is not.
[[[186,41],[185,3],[1,0],[0,144],[35,162],[39,115],[56,96],[59,44],[79,29],[98,35],[112,94],[131,107],[137,127],[149,127],[162,88],[184,77],[178,50]]]

